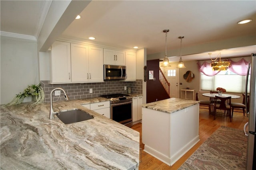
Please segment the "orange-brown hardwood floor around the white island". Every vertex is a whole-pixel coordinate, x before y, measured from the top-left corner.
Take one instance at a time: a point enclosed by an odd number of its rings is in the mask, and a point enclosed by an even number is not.
[[[142,143],[142,123],[137,123],[132,126],[132,129],[140,132],[140,148],[142,148],[142,162],[140,162],[139,170],[176,170],[194,153],[214,131],[220,126],[232,127],[235,129],[244,129],[244,124],[248,121],[248,117],[243,113],[234,110],[232,122],[229,117],[216,117],[209,115],[208,109],[199,109],[199,137],[200,141],[192,147],[184,156],[182,156],[175,164],[168,166],[160,160],[154,158],[150,154],[143,151],[144,144]],[[184,125],[186,126],[186,125]],[[189,127],[188,127],[189,128]]]

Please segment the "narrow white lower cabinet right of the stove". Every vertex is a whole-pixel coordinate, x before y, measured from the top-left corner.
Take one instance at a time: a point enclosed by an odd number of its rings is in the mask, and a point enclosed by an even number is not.
[[[140,121],[142,119],[142,105],[143,96],[132,98],[132,121]]]

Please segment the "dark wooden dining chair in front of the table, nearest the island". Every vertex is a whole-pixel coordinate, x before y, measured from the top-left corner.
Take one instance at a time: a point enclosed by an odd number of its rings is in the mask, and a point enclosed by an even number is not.
[[[231,122],[231,96],[226,98],[215,96],[213,110],[214,120],[217,114],[219,116],[229,116]]]

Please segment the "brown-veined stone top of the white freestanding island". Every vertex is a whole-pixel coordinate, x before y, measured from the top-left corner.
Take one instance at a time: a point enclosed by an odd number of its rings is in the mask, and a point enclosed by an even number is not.
[[[165,113],[174,113],[176,111],[185,109],[187,107],[193,106],[198,103],[200,102],[195,100],[170,98],[166,100],[160,100],[157,102],[143,104],[142,107],[152,109],[152,110],[162,111]]]

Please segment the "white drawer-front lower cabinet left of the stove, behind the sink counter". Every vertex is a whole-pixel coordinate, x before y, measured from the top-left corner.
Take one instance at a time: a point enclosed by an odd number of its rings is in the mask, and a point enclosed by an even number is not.
[[[82,105],[110,119],[110,102],[99,102]]]

